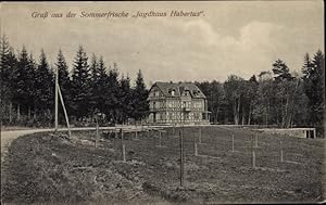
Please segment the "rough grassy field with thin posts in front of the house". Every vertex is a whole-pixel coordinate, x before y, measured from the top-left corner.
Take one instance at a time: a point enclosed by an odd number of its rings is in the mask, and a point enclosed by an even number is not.
[[[185,185],[179,187],[184,132]],[[247,129],[198,127],[125,133],[95,131],[73,138],[37,133],[16,139],[1,172],[1,198],[10,203],[216,204],[323,201],[325,141],[269,136]],[[235,152],[231,152],[231,134]],[[258,134],[258,148],[254,137]],[[251,141],[253,137],[253,141]],[[280,146],[284,162],[280,162]],[[198,154],[195,156],[195,142]],[[122,143],[126,162],[122,162]],[[252,150],[255,168],[252,167]]]

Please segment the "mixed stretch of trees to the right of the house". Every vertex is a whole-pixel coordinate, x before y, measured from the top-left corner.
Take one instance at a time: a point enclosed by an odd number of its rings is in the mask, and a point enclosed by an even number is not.
[[[304,56],[301,74],[291,74],[281,60],[250,79],[228,76],[223,84],[196,82],[208,98],[215,124],[264,125],[279,128],[317,127],[324,133],[325,56]]]

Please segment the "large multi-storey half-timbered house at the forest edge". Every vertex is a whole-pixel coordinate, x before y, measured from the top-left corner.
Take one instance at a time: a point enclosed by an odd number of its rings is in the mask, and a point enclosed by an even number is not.
[[[202,91],[189,82],[155,82],[149,92],[153,125],[209,124],[208,100]]]

